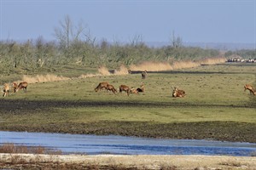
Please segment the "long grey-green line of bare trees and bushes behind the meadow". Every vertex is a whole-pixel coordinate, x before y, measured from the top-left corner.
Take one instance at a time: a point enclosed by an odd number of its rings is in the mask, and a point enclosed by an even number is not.
[[[242,57],[255,58],[255,50],[240,50],[228,52],[225,57],[238,54]],[[137,65],[143,61],[168,62],[190,60],[196,61],[218,57],[216,49],[195,47],[174,47],[172,45],[161,48],[150,48],[143,42],[127,44],[100,43],[88,41],[73,41],[68,46],[61,46],[58,42],[46,42],[44,38],[26,42],[0,42],[0,68],[13,71],[22,68],[30,71],[39,68],[54,68],[56,65],[83,65],[88,67],[116,68],[119,65]]]

